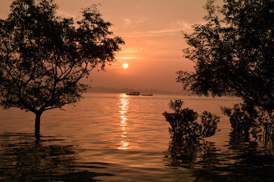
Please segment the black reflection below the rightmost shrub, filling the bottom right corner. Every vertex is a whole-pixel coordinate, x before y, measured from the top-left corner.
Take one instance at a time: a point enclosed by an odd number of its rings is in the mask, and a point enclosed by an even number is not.
[[[216,181],[273,181],[274,158],[271,149],[261,147],[258,142],[238,138],[231,132],[227,150],[219,156],[220,164],[211,170],[199,170],[201,180]]]

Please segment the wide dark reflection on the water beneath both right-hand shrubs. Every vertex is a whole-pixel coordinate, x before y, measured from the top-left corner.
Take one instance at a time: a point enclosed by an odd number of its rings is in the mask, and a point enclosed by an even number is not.
[[[214,143],[169,144],[165,165],[191,175],[183,181],[273,181],[274,158],[264,145],[230,135],[228,145],[217,149]]]

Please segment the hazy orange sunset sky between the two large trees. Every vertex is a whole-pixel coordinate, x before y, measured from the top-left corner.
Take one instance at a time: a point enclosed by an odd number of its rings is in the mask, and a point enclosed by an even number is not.
[[[0,17],[6,18],[11,0],[0,0]],[[116,55],[117,62],[106,72],[91,73],[93,86],[116,88],[157,88],[182,90],[176,83],[176,71],[193,70],[193,63],[183,58],[187,45],[183,31],[203,22],[207,12],[205,0],[55,0],[58,16],[81,15],[81,8],[100,3],[102,18],[114,26],[114,35],[121,36],[125,45]],[[128,64],[124,69],[122,65]]]

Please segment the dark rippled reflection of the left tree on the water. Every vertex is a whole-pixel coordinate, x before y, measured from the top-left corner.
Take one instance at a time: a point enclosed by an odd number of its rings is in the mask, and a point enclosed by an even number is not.
[[[44,145],[32,138],[31,134],[0,135],[1,181],[95,181],[96,176],[111,175],[92,172],[106,168],[96,166],[106,163],[79,162],[77,146]]]

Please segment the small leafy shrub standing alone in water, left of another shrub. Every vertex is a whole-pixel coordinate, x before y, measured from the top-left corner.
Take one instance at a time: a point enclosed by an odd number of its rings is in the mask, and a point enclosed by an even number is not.
[[[170,101],[169,108],[174,113],[164,112],[163,116],[169,122],[169,133],[175,143],[196,143],[199,138],[209,137],[215,134],[217,123],[220,121],[218,116],[204,111],[201,115],[192,109],[183,108],[183,101]],[[200,123],[197,118],[200,117]]]

